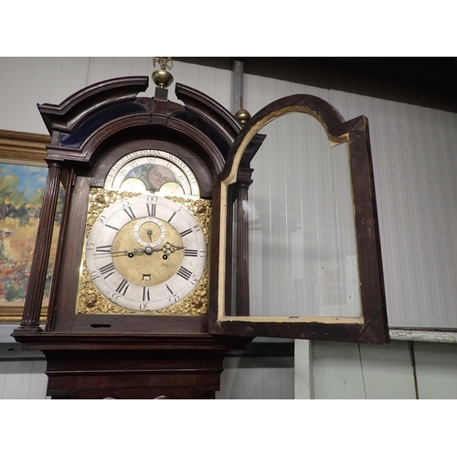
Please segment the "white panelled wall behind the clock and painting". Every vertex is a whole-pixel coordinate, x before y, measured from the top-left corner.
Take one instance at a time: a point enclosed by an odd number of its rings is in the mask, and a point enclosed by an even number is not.
[[[48,133],[37,103],[60,103],[92,83],[153,71],[152,58],[0,58],[0,129]],[[175,61],[171,72],[175,81],[201,90],[233,111],[231,71]],[[153,86],[151,82],[146,96],[154,94]],[[368,118],[389,325],[457,328],[457,114],[250,74],[244,77],[244,108],[251,114],[294,93],[330,102],[345,120],[361,114]],[[177,101],[173,86],[169,94]],[[10,343],[0,343],[5,350],[6,344]],[[443,398],[456,398],[455,347],[399,341],[376,348],[299,343],[296,397],[439,398],[442,385]],[[0,398],[44,398],[43,360],[0,358]],[[288,362],[271,365],[267,357],[250,364],[230,357],[226,368],[218,398],[293,397]],[[30,377],[35,380],[22,390],[13,388],[20,385],[16,379],[26,379],[26,372],[35,373]],[[386,382],[393,386],[395,379],[396,388],[386,389],[379,373],[390,373]],[[262,389],[250,390],[260,382]]]

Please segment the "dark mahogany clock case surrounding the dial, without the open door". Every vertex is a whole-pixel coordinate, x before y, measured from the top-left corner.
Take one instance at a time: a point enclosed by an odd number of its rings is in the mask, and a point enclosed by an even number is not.
[[[211,399],[223,358],[251,337],[208,334],[207,315],[78,314],[75,312],[90,188],[101,189],[112,166],[134,151],[173,154],[211,201],[215,177],[241,126],[205,94],[176,84],[183,104],[138,97],[147,77],[101,81],[59,105],[38,109],[51,134],[42,217],[26,304],[16,341],[47,357],[54,399]],[[59,186],[66,197],[45,331],[40,324],[43,271]],[[210,256],[209,256],[210,257]]]

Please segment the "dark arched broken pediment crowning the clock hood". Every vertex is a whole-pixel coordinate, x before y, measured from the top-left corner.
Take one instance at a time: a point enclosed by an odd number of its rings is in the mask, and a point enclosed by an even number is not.
[[[90,170],[113,142],[174,137],[218,175],[241,130],[236,118],[217,101],[187,86],[176,84],[175,90],[184,105],[167,100],[168,90],[161,88],[156,88],[153,98],[138,97],[147,87],[147,77],[105,80],[58,105],[38,105],[52,138],[48,163]]]

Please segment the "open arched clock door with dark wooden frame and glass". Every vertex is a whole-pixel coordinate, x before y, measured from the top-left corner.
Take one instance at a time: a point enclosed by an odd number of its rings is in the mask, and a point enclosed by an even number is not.
[[[271,103],[239,134],[216,192],[212,333],[388,341],[364,116],[345,122],[309,95]]]

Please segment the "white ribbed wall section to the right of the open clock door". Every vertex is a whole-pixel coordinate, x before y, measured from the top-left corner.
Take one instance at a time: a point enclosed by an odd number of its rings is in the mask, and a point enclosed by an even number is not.
[[[370,120],[389,324],[455,327],[457,115],[359,99]]]

